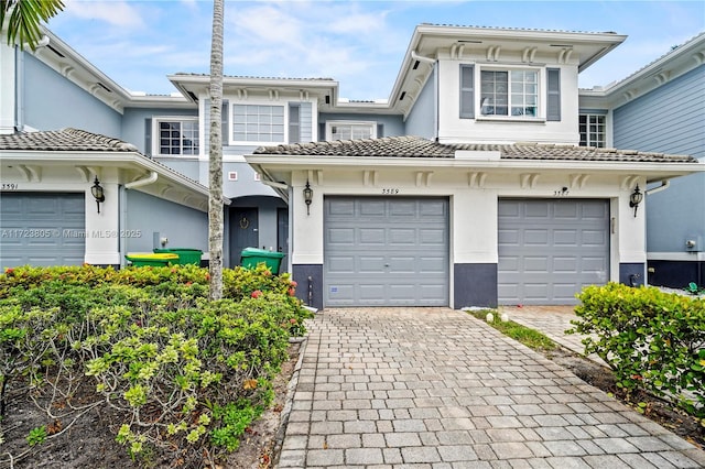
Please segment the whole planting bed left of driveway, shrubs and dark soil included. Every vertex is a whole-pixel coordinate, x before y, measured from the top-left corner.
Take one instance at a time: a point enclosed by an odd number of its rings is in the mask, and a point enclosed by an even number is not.
[[[270,467],[290,339],[311,314],[264,266],[0,275],[0,467]]]

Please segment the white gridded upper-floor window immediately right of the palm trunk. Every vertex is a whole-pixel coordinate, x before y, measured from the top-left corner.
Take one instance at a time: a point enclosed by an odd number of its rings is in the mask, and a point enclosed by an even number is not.
[[[284,107],[232,105],[232,140],[284,142]]]

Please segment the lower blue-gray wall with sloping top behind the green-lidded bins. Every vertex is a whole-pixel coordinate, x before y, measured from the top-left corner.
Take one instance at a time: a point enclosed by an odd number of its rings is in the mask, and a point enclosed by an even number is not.
[[[151,252],[160,237],[169,238],[166,248],[208,251],[208,214],[134,189],[124,190],[124,230],[141,234],[126,239],[126,253]]]

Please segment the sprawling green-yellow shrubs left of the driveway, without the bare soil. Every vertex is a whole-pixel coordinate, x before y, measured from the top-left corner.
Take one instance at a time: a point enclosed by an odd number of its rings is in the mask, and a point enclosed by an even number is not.
[[[271,403],[289,338],[305,332],[310,313],[288,275],[225,272],[229,297],[210,302],[207,270],[191,265],[6,271],[3,411],[4,390],[17,384],[72,415],[112,408],[122,416],[116,439],[134,457],[156,450],[188,463],[236,449]],[[74,406],[86,380],[95,394]],[[52,418],[54,404],[43,407]]]

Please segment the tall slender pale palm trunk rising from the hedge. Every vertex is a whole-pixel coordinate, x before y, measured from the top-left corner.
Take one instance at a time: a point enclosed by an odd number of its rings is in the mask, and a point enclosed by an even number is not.
[[[210,45],[210,135],[208,156],[208,251],[210,253],[210,299],[223,297],[223,10],[224,0],[213,1]]]

